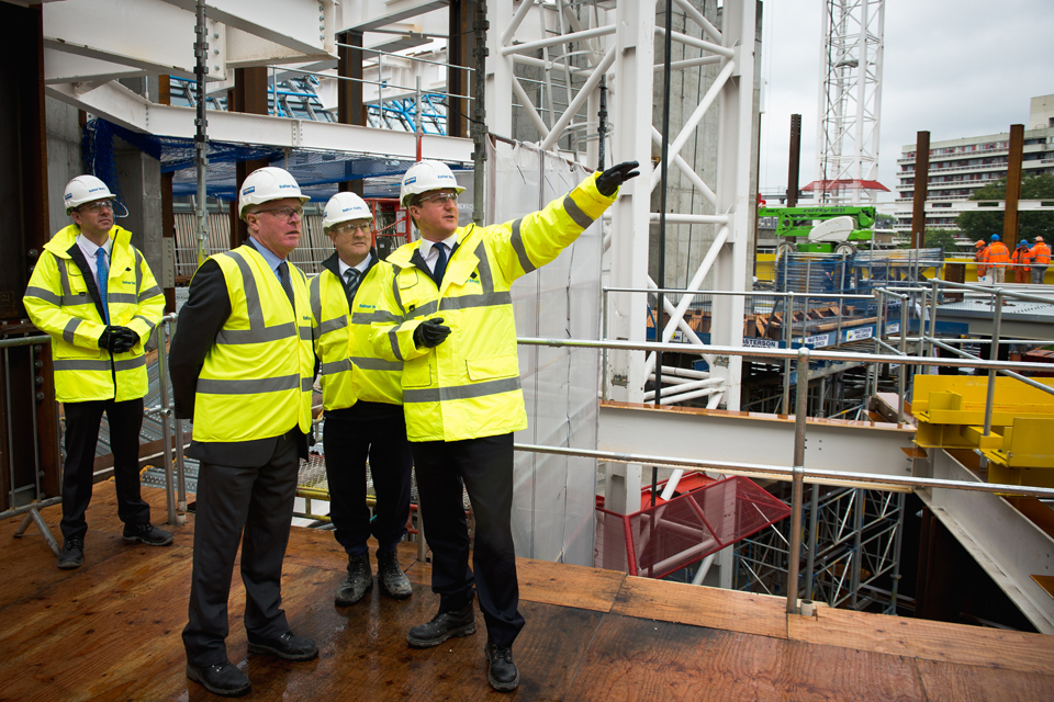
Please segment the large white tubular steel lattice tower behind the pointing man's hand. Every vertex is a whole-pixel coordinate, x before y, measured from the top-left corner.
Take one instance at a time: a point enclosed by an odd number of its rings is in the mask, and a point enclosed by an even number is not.
[[[539,145],[545,149],[556,148],[567,134],[581,134],[585,127],[588,134],[595,133],[595,117],[598,100],[598,86],[602,76],[607,76],[610,90],[608,110],[614,129],[610,132],[609,158],[607,163],[624,160],[637,160],[641,163],[641,177],[627,183],[621,196],[610,210],[610,234],[606,238],[609,246],[613,287],[636,290],[657,288],[658,285],[648,275],[648,233],[649,225],[659,220],[659,213],[651,212],[651,193],[659,186],[661,163],[651,163],[652,145],[662,141],[662,135],[653,126],[655,114],[650,100],[654,73],[662,66],[655,64],[655,41],[661,38],[663,30],[655,26],[657,0],[629,0],[616,4],[614,13],[601,11],[587,13],[585,18],[574,16],[562,2],[557,3],[556,16],[548,22],[550,35],[537,39],[518,37],[517,31],[529,13],[538,12],[540,25],[547,26],[546,10],[535,0],[524,0],[513,11],[511,3],[494,3],[490,8],[492,31],[489,34],[491,59],[487,61],[487,126],[496,134],[511,134],[513,125],[513,103],[524,106],[525,114],[541,134]],[[695,185],[699,193],[717,211],[715,215],[689,213],[668,213],[670,224],[709,224],[717,228],[714,244],[704,257],[702,264],[692,276],[687,290],[699,290],[704,279],[711,271],[719,290],[747,290],[747,238],[749,217],[753,215],[753,203],[749,194],[750,136],[753,101],[753,61],[755,5],[743,0],[730,0],[725,3],[725,26],[718,31],[687,0],[675,0],[676,10],[695,23],[705,38],[696,38],[674,32],[672,39],[700,50],[700,56],[675,61],[672,69],[684,70],[699,65],[714,64],[720,70],[711,87],[702,97],[699,104],[692,111],[676,135],[671,135],[671,166],[679,169]],[[549,5],[547,5],[549,7]],[[584,24],[583,24],[584,23]],[[527,41],[522,41],[527,38]],[[514,41],[520,41],[515,43]],[[551,47],[565,46],[569,42],[583,42],[587,47],[588,69],[571,63],[568,55],[549,55],[546,59],[526,56],[539,49],[548,52]],[[558,82],[570,86],[572,75],[584,78],[584,84],[572,93],[568,89],[568,106],[562,113],[553,111],[552,91],[549,91],[550,104],[539,109],[531,103],[527,91],[515,76],[514,65],[524,64],[546,71],[546,81],[551,86],[549,75],[558,72]],[[585,124],[579,113],[585,109]],[[661,107],[660,107],[661,109]],[[720,132],[718,168],[707,183],[681,156],[681,150],[692,141],[703,117],[710,110],[719,113]],[[547,122],[546,116],[549,116]],[[579,120],[579,122],[575,122]],[[581,144],[581,139],[575,139]],[[584,156],[590,165],[596,165],[596,140],[586,139]],[[669,341],[674,331],[685,328],[684,313],[692,297],[684,295],[680,301],[664,301],[664,309],[670,314],[669,324],[662,331],[662,341]],[[633,293],[613,293],[608,306],[609,336],[617,339],[642,341],[646,333],[646,296]],[[722,346],[740,346],[743,317],[741,297],[722,298],[715,308],[713,340]],[[698,342],[694,332],[687,330],[689,338]],[[718,401],[729,409],[739,408],[741,360],[736,356],[725,361],[725,365],[711,361],[711,376],[718,378],[719,387],[710,395],[711,406]],[[614,351],[609,354],[606,388],[607,397],[616,400],[643,401],[646,381],[654,373],[655,356],[640,352]],[[695,382],[698,378],[685,378]],[[665,388],[674,395],[679,388],[674,385]]]

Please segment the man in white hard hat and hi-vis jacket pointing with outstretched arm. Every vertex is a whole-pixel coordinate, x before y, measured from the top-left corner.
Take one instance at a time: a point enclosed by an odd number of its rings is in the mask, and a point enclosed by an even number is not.
[[[487,679],[513,690],[512,646],[524,626],[513,547],[513,432],[527,427],[516,358],[513,282],[556,259],[637,176],[636,162],[594,174],[541,212],[502,225],[458,226],[450,169],[421,161],[403,176],[400,200],[422,240],[389,257],[371,341],[403,362],[403,407],[414,452],[419,508],[431,546],[439,610],[414,626],[414,647],[475,632],[475,586],[486,622]],[[462,484],[475,516],[469,536]]]

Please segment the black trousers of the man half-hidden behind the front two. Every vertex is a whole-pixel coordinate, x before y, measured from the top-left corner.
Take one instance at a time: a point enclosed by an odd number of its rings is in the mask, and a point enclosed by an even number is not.
[[[402,408],[394,415],[348,419],[326,414],[323,443],[329,480],[329,518],[337,543],[349,556],[368,553],[366,540],[377,539],[378,551],[394,551],[406,533],[411,471],[414,457],[406,440]],[[377,517],[366,506],[366,460],[370,460]]]

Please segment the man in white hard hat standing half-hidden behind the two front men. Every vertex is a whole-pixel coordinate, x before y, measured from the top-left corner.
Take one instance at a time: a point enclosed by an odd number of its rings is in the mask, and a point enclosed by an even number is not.
[[[396,600],[413,593],[395,547],[406,533],[414,458],[403,420],[403,364],[378,358],[370,344],[378,281],[391,280],[383,273],[388,263],[372,248],[372,220],[355,193],[329,199],[322,226],[336,251],[309,286],[315,355],[322,362],[329,518],[348,554],[348,576],[334,597],[339,607],[355,604],[373,587],[371,534],[381,591]],[[377,496],[372,520],[366,505],[367,460]]]

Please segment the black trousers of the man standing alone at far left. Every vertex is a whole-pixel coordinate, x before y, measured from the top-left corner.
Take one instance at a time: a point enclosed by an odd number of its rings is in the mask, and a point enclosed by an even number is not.
[[[63,536],[83,541],[88,533],[85,511],[91,501],[92,469],[102,414],[110,422],[113,480],[117,490],[117,517],[125,524],[150,521],[150,506],[139,495],[139,429],[143,399],[65,403],[66,465],[63,469]]]

